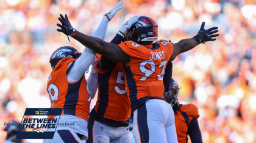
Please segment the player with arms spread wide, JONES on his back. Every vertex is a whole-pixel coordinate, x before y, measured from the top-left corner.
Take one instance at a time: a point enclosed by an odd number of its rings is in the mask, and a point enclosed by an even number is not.
[[[65,19],[62,19],[64,21]],[[76,31],[68,24],[58,24],[59,32],[70,35]],[[130,27],[125,41],[119,45],[102,41],[99,38],[76,31],[71,35],[81,44],[101,54],[105,58],[122,62],[131,108],[133,112],[133,136],[136,142],[177,142],[174,113],[171,105],[165,102],[163,75],[165,66],[177,55],[187,52],[202,42],[215,41],[213,35],[218,27],[204,29],[205,22],[196,36],[182,39],[176,44],[158,40],[157,23],[148,16],[140,16]],[[157,41],[153,43],[154,41]]]

